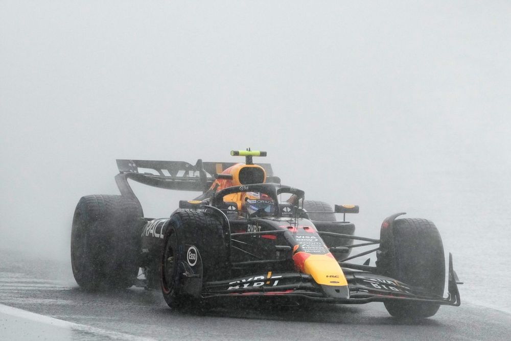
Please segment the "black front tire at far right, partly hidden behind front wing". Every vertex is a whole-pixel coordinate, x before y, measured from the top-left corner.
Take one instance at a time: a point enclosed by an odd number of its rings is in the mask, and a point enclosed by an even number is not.
[[[425,219],[398,219],[382,228],[377,268],[380,273],[441,297],[445,285],[445,258],[442,238],[436,226]],[[400,319],[433,316],[438,304],[387,301],[387,311]]]

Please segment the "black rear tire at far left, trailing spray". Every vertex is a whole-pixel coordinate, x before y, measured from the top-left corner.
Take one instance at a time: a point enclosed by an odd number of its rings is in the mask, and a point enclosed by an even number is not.
[[[133,284],[142,216],[140,204],[122,196],[80,199],[71,231],[71,264],[78,285],[96,290]]]

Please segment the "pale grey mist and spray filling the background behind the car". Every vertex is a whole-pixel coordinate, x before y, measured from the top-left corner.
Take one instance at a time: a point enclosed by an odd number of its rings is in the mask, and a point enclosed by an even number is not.
[[[429,218],[462,299],[506,309],[487,288],[511,280],[489,267],[511,260],[510,17],[504,1],[2,1],[0,247],[68,262],[75,205],[118,193],[116,158],[251,147],[307,199],[360,205],[360,234]],[[133,187],[146,216],[195,196]]]

